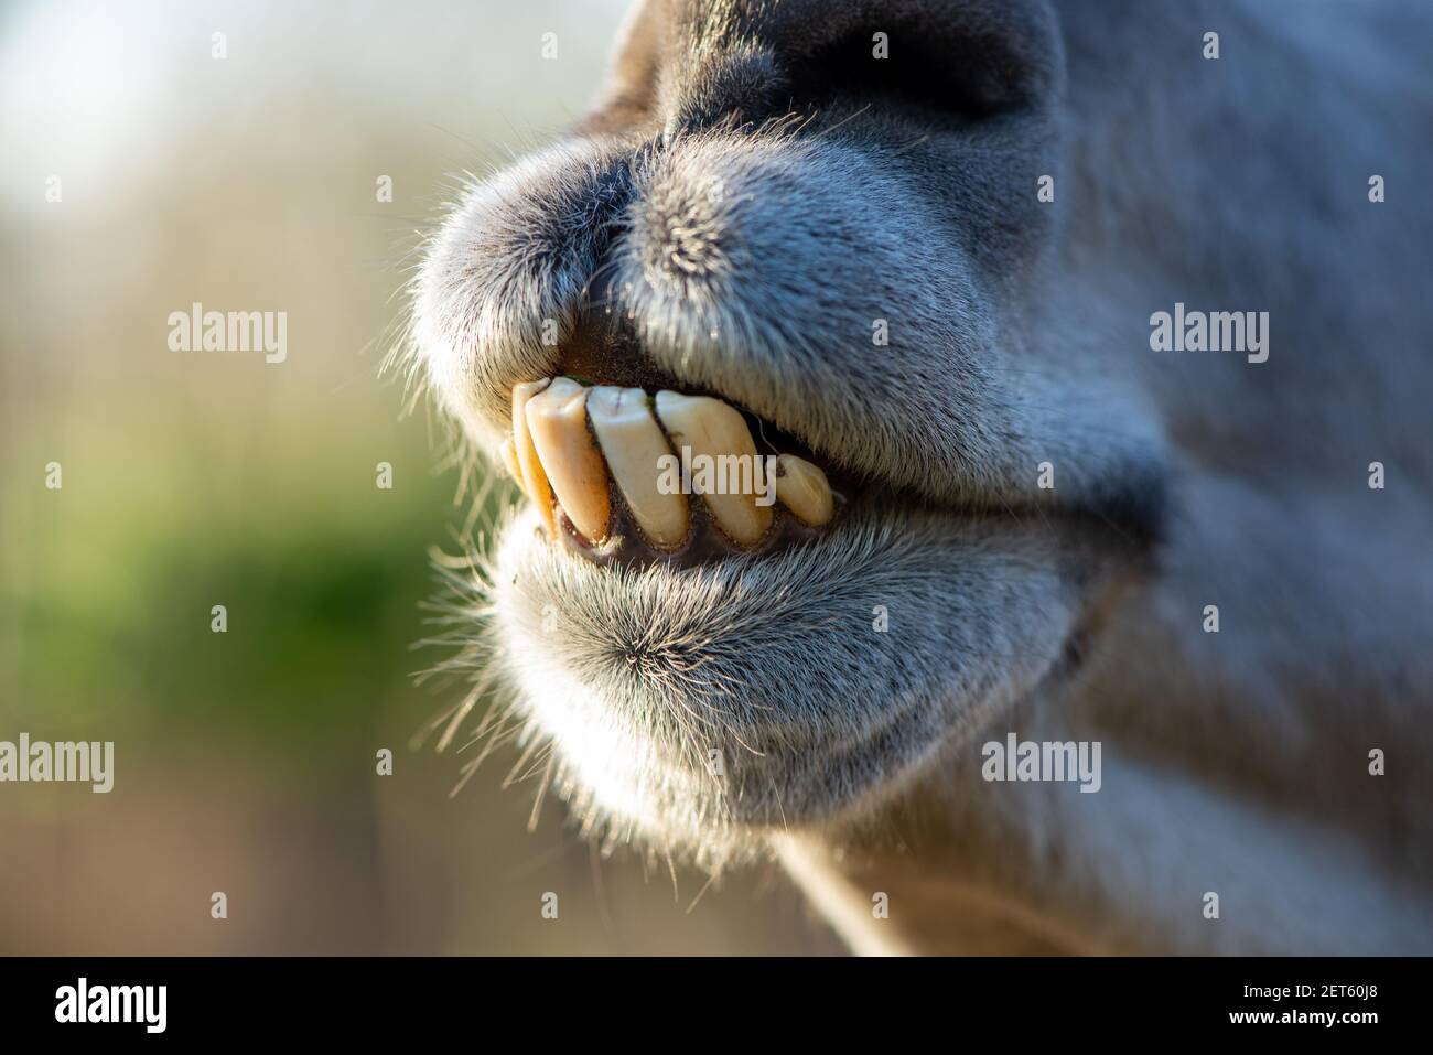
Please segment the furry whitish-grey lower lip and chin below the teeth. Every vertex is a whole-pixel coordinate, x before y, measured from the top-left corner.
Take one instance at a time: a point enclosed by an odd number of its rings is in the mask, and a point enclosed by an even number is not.
[[[780,549],[787,530],[805,540]],[[963,698],[947,677],[973,694],[979,718],[984,685],[1035,685],[1062,661],[1086,589],[1063,555],[1123,568],[1105,526],[953,513],[880,483],[853,493],[833,529],[805,530],[778,507],[767,549],[696,530],[689,549],[653,555],[620,525],[599,546],[560,525],[553,545],[536,510],[517,512],[497,536],[484,646],[524,717],[555,738],[570,787],[596,788],[618,817],[663,824],[818,823],[891,765],[930,757],[944,708]],[[937,611],[954,631],[923,618]],[[990,612],[1013,615],[1013,638],[986,634]],[[913,654],[929,662],[911,665]],[[722,784],[706,768],[711,748]],[[837,800],[814,794],[833,777]]]

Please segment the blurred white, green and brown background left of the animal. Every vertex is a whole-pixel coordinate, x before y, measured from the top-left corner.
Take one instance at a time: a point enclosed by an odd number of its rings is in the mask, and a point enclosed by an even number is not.
[[[691,907],[705,876],[602,860],[559,803],[527,831],[514,753],[450,797],[463,755],[407,747],[457,692],[411,644],[464,510],[380,377],[400,290],[622,9],[0,7],[0,740],[115,741],[110,794],[0,784],[0,953],[837,950],[774,870]],[[193,301],[287,311],[288,360],[169,351]]]

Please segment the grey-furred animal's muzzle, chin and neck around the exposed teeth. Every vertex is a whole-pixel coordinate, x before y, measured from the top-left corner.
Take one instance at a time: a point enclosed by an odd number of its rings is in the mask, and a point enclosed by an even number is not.
[[[1427,952],[1429,19],[641,4],[595,112],[434,232],[411,364],[492,444],[602,271],[881,505],[682,575],[502,529],[454,618],[585,827],[775,849],[863,949]],[[1267,312],[1267,357],[1156,350],[1175,304]],[[1101,743],[1098,794],[984,780],[1012,732]]]

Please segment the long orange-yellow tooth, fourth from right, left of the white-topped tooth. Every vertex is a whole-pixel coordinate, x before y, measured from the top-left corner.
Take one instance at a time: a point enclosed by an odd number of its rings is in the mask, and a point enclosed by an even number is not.
[[[527,400],[527,429],[553,495],[583,538],[608,536],[612,497],[608,470],[588,431],[588,390],[569,377]]]

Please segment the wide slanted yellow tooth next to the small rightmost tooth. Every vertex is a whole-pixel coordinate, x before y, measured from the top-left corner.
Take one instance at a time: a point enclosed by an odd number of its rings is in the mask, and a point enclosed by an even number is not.
[[[675,391],[659,391],[656,394],[656,416],[672,437],[672,446],[678,453],[684,446],[691,447],[695,459],[705,454],[714,460],[722,456],[737,454],[735,462],[727,462],[729,467],[741,466],[745,480],[755,483],[757,473],[757,444],[752,443],[751,431],[741,413],[721,400],[708,396],[681,396]],[[728,479],[731,473],[728,472]],[[694,490],[699,487],[698,474],[692,474]],[[729,490],[738,490],[728,487]],[[737,495],[706,495],[702,500],[711,510],[716,526],[742,546],[755,545],[771,526],[771,506],[758,506],[755,489]]]

